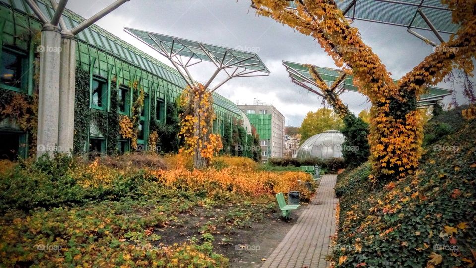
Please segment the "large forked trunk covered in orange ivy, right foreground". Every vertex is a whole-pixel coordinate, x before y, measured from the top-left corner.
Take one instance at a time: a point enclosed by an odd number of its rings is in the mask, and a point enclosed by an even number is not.
[[[422,126],[416,99],[427,85],[440,82],[456,66],[465,73],[473,70],[476,56],[474,1],[445,0],[452,10],[453,23],[461,25],[455,38],[442,44],[457,50],[436,50],[396,85],[385,65],[365,45],[358,29],[338,9],[334,0],[289,1],[252,0],[258,14],[272,17],[305,35],[311,35],[338,67],[358,81],[356,86],[369,97],[371,108],[369,144],[372,177],[395,180],[412,173],[422,149]],[[349,49],[345,49],[349,48]]]

